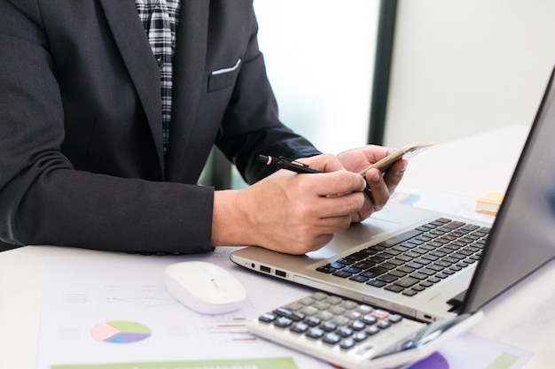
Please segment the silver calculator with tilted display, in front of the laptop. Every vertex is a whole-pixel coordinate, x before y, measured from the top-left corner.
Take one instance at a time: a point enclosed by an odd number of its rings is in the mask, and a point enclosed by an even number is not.
[[[434,341],[443,342],[465,331],[474,322],[459,323],[480,319],[480,315],[462,314],[429,324],[341,296],[315,292],[263,313],[247,327],[271,342],[334,365],[379,369],[426,357],[439,345]],[[450,329],[453,327],[457,328]],[[444,334],[448,330],[449,334]],[[442,335],[445,339],[435,340]],[[428,345],[430,342],[435,344]]]

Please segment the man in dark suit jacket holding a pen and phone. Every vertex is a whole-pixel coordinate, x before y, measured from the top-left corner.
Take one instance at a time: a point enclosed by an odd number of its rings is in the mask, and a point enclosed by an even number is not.
[[[0,241],[304,253],[379,210],[406,162],[364,181],[389,150],[320,155],[285,127],[256,31],[249,0],[0,0]],[[197,185],[214,144],[253,186]]]

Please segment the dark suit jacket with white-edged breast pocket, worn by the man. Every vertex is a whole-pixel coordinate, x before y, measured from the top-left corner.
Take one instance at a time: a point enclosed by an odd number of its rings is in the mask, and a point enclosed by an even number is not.
[[[277,119],[251,3],[183,1],[164,171],[133,0],[0,0],[0,241],[211,250],[214,189],[196,182],[214,143],[251,182],[258,153],[317,154]]]

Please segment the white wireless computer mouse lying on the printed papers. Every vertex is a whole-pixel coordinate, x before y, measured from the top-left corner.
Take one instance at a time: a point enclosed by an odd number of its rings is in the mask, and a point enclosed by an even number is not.
[[[206,261],[168,265],[164,280],[177,301],[203,314],[237,310],[246,298],[245,288],[233,274]]]

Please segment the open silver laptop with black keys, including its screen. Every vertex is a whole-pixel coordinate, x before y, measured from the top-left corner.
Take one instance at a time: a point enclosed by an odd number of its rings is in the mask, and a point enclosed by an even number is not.
[[[552,72],[493,226],[387,204],[321,250],[293,256],[248,246],[231,260],[424,322],[478,311],[555,257],[553,78]],[[454,236],[446,236],[449,228]]]

